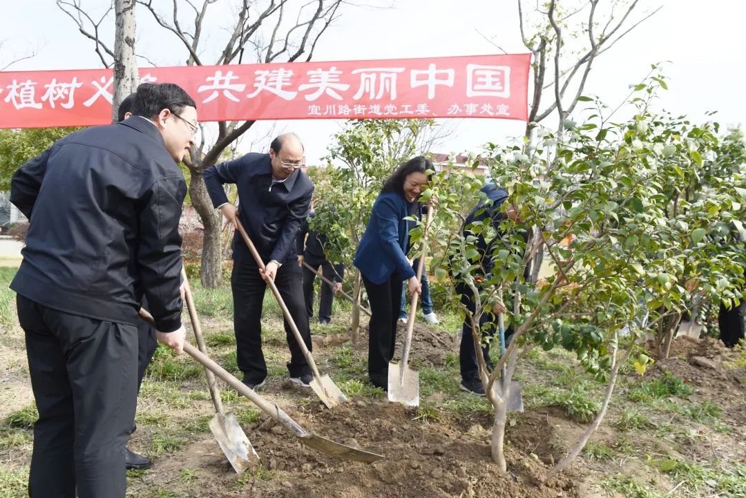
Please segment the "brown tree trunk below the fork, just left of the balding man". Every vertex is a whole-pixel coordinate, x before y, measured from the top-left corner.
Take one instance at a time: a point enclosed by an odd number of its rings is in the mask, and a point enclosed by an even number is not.
[[[189,182],[189,196],[192,206],[202,220],[201,282],[204,289],[215,289],[223,283],[222,215],[213,208],[202,174],[192,170]]]

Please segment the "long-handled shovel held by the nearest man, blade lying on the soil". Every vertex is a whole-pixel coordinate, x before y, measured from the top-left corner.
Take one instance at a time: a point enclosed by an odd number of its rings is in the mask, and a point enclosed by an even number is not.
[[[140,309],[140,317],[144,318],[151,325],[154,325],[152,315],[142,308]],[[295,420],[292,420],[289,415],[283,412],[283,409],[274,403],[269,403],[269,401],[249,389],[243,382],[229,374],[225,368],[222,368],[216,362],[213,362],[209,356],[201,353],[200,350],[196,349],[192,344],[184,342],[184,352],[189,356],[192,356],[192,358],[197,360],[197,362],[201,363],[207,371],[219,376],[223,382],[230,385],[233,389],[238,391],[239,394],[248,397],[251,403],[254,403],[254,405],[258,406],[262,412],[277,420],[281,426],[295,433],[295,437],[299,438],[301,443],[305,444],[307,447],[319,450],[327,455],[336,456],[345,460],[363,461],[367,464],[383,458],[383,455],[378,455],[377,453],[371,453],[365,450],[358,450],[357,448],[345,446],[344,444],[336,443],[330,439],[322,438],[319,435],[313,434],[313,432],[308,432],[306,429],[299,426]]]

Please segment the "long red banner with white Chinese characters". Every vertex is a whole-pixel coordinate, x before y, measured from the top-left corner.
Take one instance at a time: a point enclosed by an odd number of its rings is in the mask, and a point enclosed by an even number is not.
[[[527,119],[530,54],[140,69],[178,83],[199,121]],[[0,128],[111,122],[111,69],[0,72]]]

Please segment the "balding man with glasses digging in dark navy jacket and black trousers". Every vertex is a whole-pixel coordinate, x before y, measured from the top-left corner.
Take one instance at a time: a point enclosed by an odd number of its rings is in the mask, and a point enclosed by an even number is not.
[[[301,268],[295,255],[295,239],[311,206],[313,183],[303,171],[304,149],[298,136],[285,133],[272,140],[269,154],[246,154],[239,159],[210,166],[204,183],[213,205],[236,225],[236,217],[257,248],[265,271],[251,256],[241,234],[233,236],[233,330],[236,359],[243,382],[255,389],[264,385],[267,366],[262,353],[261,318],[266,281],[275,280],[298,331],[311,347],[308,315],[301,286]],[[223,184],[238,186],[240,210],[228,202]],[[305,357],[285,322],[290,380],[304,387],[313,377]]]

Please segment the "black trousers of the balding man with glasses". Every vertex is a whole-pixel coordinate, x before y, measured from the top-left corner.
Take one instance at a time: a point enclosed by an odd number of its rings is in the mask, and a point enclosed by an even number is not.
[[[298,264],[287,262],[278,269],[275,285],[298,327],[298,332],[301,332],[308,350],[313,351],[301,280],[301,268]],[[243,372],[244,381],[251,384],[258,384],[267,376],[267,365],[262,352],[262,303],[266,288],[267,284],[260,276],[256,262],[233,263],[231,289],[233,290],[236,360],[239,370]],[[290,376],[310,374],[306,358],[287,321],[285,321],[285,333],[290,349],[290,362],[287,364]]]

